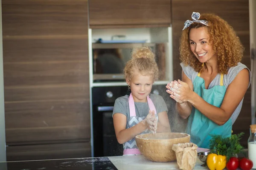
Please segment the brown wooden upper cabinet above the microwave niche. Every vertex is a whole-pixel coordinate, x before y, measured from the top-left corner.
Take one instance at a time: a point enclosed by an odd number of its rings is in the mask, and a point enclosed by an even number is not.
[[[90,0],[90,28],[170,26],[171,0]]]

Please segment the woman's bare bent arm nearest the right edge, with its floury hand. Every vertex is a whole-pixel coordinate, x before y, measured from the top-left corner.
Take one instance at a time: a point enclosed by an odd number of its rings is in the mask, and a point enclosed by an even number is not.
[[[186,88],[186,83],[178,81],[180,90],[175,90],[175,96],[183,101],[190,102],[195,108],[198,109],[207,118],[211,119],[217,125],[224,125],[231,117],[233,112],[244,97],[249,85],[249,72],[244,68],[237,74],[236,78],[227,88],[221,107],[210,105],[198,94]]]

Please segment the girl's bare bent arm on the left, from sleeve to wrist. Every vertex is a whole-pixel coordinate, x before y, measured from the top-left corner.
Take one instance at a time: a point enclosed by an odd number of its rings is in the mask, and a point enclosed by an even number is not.
[[[145,119],[134,125],[131,128],[126,129],[127,117],[122,113],[115,113],[113,115],[113,123],[115,127],[116,139],[119,144],[123,144],[133,139],[138,134],[146,130],[147,125]]]

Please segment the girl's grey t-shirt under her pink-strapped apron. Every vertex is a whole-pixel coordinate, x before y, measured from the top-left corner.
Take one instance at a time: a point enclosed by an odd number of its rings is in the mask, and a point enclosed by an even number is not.
[[[157,94],[150,94],[150,99],[154,103],[154,107],[156,108],[157,114],[163,111],[168,111],[165,101],[162,96]],[[126,128],[128,128],[128,120],[130,119],[130,109],[129,109],[129,96],[125,95],[116,99],[113,109],[113,114],[122,113],[127,117]],[[149,106],[148,102],[134,102],[135,112],[137,117],[144,117],[148,115]]]

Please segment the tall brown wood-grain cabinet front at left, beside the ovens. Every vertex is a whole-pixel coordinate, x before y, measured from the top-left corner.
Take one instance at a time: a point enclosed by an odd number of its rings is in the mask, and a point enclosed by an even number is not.
[[[90,150],[87,3],[2,0],[7,156],[25,144],[33,159],[38,144]]]

